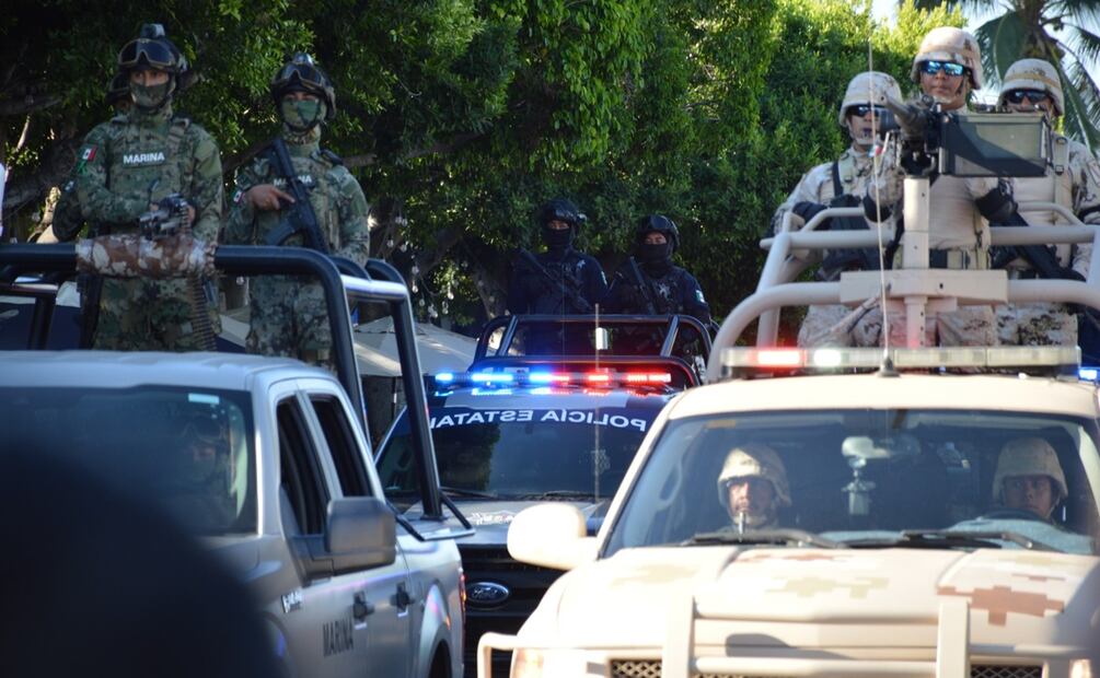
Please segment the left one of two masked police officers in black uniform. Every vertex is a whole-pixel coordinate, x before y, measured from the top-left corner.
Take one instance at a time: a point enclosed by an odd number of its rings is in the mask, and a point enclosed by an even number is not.
[[[556,198],[539,209],[538,221],[547,251],[519,253],[508,287],[508,311],[594,313],[607,293],[607,278],[598,262],[573,248],[584,215],[569,200]]]

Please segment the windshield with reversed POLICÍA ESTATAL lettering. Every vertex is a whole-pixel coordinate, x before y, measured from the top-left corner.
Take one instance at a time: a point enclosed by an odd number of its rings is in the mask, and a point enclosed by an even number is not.
[[[609,499],[659,410],[431,408],[440,482],[455,499]],[[415,458],[403,413],[378,453],[398,505],[419,497]]]

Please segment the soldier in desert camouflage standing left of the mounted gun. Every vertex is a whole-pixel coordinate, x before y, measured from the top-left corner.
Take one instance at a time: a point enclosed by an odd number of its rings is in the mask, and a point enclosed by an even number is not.
[[[861,73],[848,82],[837,122],[851,137],[851,146],[835,162],[817,165],[802,177],[794,191],[776,210],[771,220],[773,231],[779,232],[787,212],[794,213],[805,222],[827,207],[859,204],[871,173],[870,152],[875,146],[876,108],[883,105],[886,97],[900,99],[901,88],[897,80],[884,73]],[[862,219],[858,221],[859,227],[866,227]],[[822,263],[820,277],[832,280],[839,278],[843,270],[878,268],[877,259],[877,256],[868,257],[860,251],[828,252]],[[799,329],[799,345],[850,346],[850,326],[858,318],[858,312],[854,314],[853,309],[843,304],[812,305]]]

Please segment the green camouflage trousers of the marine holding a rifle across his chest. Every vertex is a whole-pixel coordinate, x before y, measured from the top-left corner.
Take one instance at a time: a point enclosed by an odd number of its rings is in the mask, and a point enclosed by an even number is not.
[[[249,353],[332,368],[332,330],[321,286],[307,277],[253,279]]]

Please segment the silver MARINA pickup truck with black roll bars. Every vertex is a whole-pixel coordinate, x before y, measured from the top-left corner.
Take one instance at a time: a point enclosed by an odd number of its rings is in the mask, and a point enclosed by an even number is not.
[[[74,254],[6,246],[0,263],[72,273]],[[384,305],[407,398],[424,402],[406,289],[362,271],[341,279],[328,259],[292,248],[222,247],[217,266],[317,275],[341,379],[237,354],[0,352],[0,448],[56,454],[189,526],[249,585],[288,675],[460,676],[464,591],[453,536],[470,531],[442,515],[425,418],[413,421],[410,443],[425,510],[395,515],[351,360],[344,298]],[[382,264],[372,270],[387,275]],[[30,286],[32,346],[48,342],[45,287]]]

